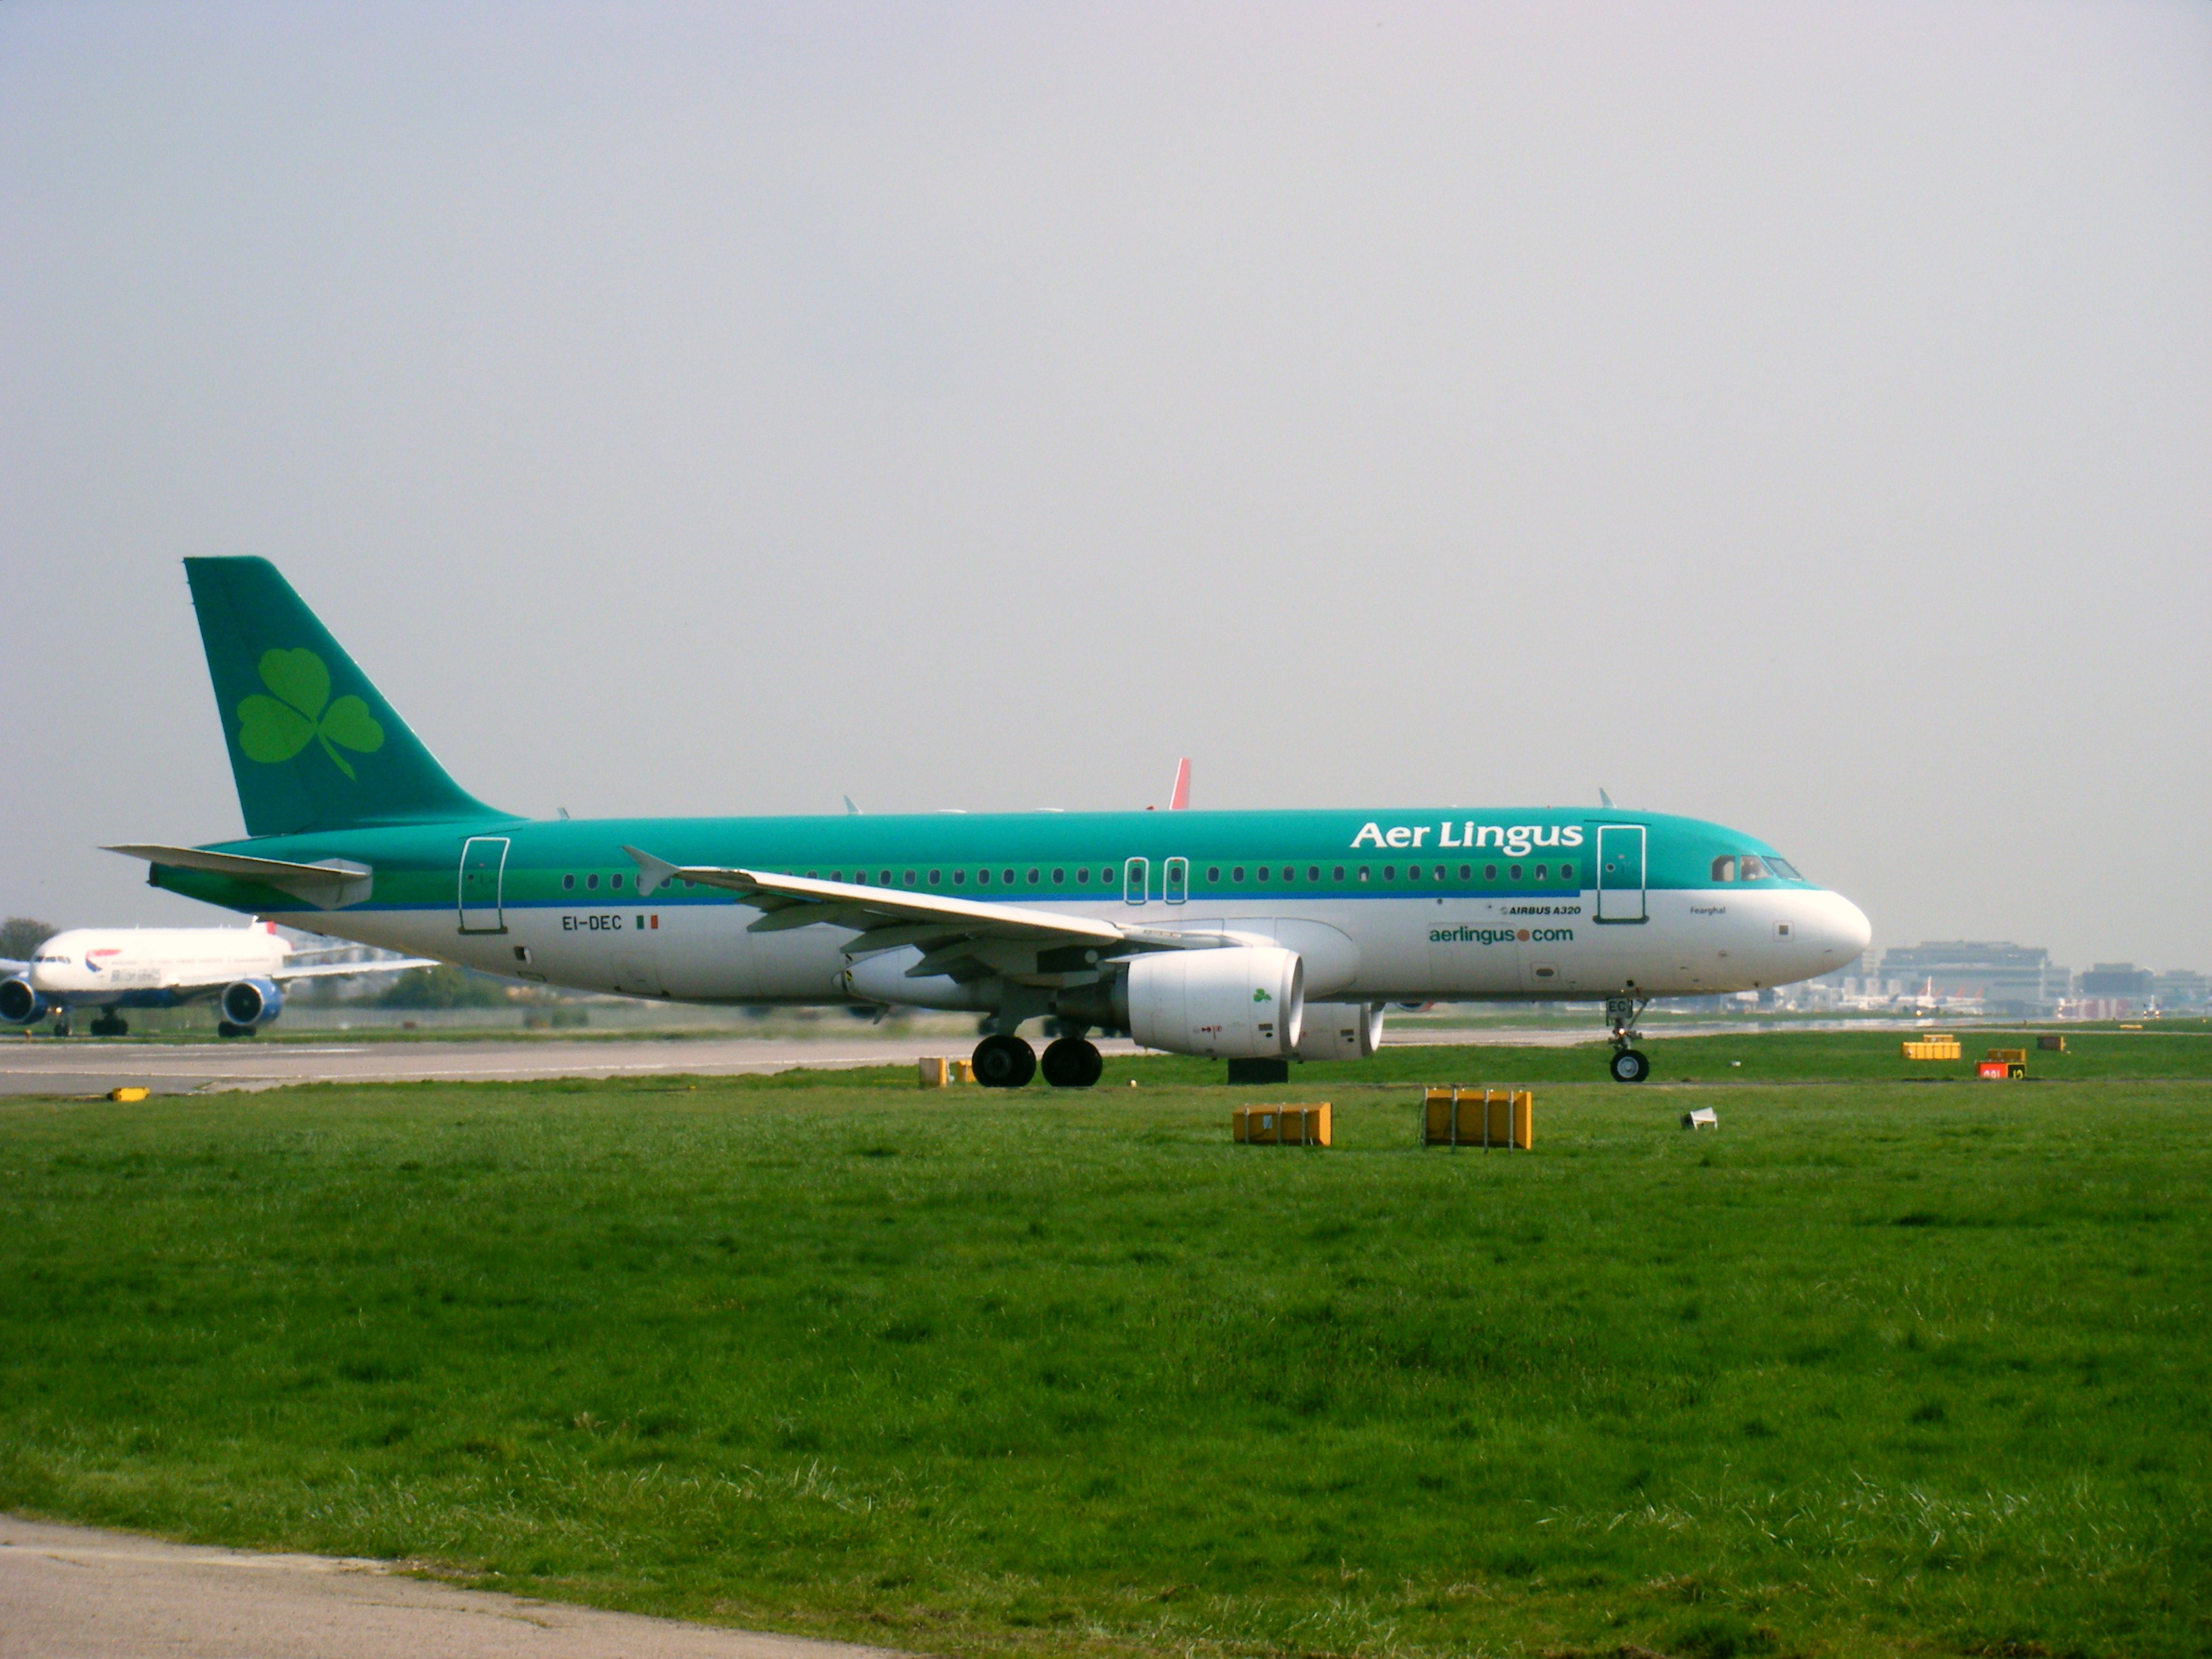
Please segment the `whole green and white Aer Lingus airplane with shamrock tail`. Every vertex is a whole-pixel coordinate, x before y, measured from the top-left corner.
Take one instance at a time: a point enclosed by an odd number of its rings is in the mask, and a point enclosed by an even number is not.
[[[1365,1057],[1389,1002],[1601,1000],[1825,973],[1867,918],[1763,841],[1557,807],[518,818],[462,792],[265,560],[186,560],[248,841],[148,880],[319,933],[681,1002],[984,1015],[975,1079],[1099,1075],[1091,1031]]]

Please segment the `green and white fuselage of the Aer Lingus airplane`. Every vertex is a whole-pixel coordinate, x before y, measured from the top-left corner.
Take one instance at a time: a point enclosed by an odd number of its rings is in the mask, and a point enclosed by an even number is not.
[[[1796,878],[1765,843],[1644,812],[500,818],[223,843],[374,872],[369,891],[338,909],[192,869],[157,865],[153,880],[363,945],[580,991],[1004,1002],[1004,987],[973,971],[909,973],[914,947],[854,958],[849,927],[754,931],[761,909],[686,883],[639,896],[624,847],[677,865],[1267,938],[1301,953],[1307,1000],[1750,991],[1843,967],[1867,942],[1858,907]],[[1040,973],[1035,962],[1009,964],[1013,978],[1024,969]]]

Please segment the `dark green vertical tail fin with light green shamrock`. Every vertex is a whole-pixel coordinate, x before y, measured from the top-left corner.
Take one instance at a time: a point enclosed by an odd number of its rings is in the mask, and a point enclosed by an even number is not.
[[[186,560],[246,834],[502,818],[447,776],[268,560]]]

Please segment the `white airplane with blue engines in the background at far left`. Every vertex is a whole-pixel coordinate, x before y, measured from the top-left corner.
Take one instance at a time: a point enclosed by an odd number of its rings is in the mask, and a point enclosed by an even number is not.
[[[323,947],[327,953],[330,947]],[[316,956],[319,951],[299,951]],[[131,1033],[122,1009],[217,1006],[217,1031],[250,1037],[283,1013],[292,980],[352,973],[398,973],[438,967],[409,956],[380,962],[294,962],[276,922],[250,927],[73,927],[31,951],[29,962],[0,960],[0,1020],[15,1026],[53,1015],[53,1035],[69,1035],[75,1009],[97,1009],[95,1037]]]

